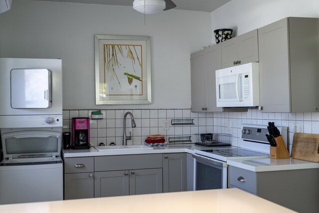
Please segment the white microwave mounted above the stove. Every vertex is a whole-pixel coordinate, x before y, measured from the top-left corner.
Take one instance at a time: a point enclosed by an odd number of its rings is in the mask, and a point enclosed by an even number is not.
[[[259,106],[258,62],[216,70],[217,107]]]

